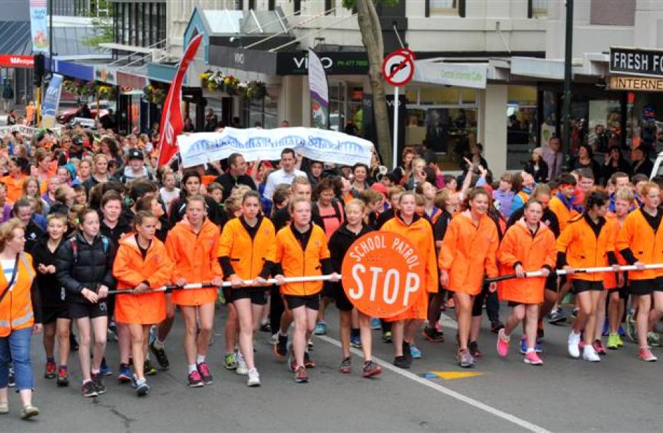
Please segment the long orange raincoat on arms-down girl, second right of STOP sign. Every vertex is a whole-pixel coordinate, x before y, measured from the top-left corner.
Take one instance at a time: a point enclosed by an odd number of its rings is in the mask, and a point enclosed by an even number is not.
[[[488,215],[475,225],[469,211],[457,214],[449,222],[438,261],[440,269],[449,273],[448,289],[479,294],[484,273],[489,278],[498,276],[499,245],[497,226]]]

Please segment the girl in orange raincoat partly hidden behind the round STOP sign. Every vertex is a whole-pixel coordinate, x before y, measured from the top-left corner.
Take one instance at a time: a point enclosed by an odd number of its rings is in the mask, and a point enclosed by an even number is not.
[[[412,353],[410,345],[422,322],[428,316],[429,294],[438,291],[438,269],[435,266],[435,243],[429,222],[415,213],[417,200],[414,192],[404,192],[398,202],[400,211],[385,222],[380,231],[392,231],[403,236],[417,250],[419,260],[424,264],[422,289],[415,294],[417,299],[412,307],[401,314],[385,320],[392,322],[394,341],[394,365],[410,368]],[[470,304],[471,307],[471,304]]]

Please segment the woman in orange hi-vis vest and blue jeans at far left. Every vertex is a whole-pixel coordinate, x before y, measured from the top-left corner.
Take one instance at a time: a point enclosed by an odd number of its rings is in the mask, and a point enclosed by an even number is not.
[[[39,414],[32,405],[33,371],[30,338],[41,330],[39,293],[33,284],[31,255],[23,252],[25,237],[21,222],[0,225],[0,413],[8,413],[9,362],[13,361],[16,388],[21,395],[21,416]]]

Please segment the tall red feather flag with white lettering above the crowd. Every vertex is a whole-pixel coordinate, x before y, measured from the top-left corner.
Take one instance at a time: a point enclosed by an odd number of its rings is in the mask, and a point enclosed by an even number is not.
[[[184,120],[182,119],[182,112],[179,107],[182,93],[182,82],[184,81],[184,74],[193,61],[195,52],[198,51],[202,34],[193,38],[179,62],[177,73],[170,84],[168,95],[163,104],[163,112],[161,113],[161,124],[159,125],[159,162],[158,165],[166,165],[172,157],[177,153],[177,135],[181,134],[184,129]]]

